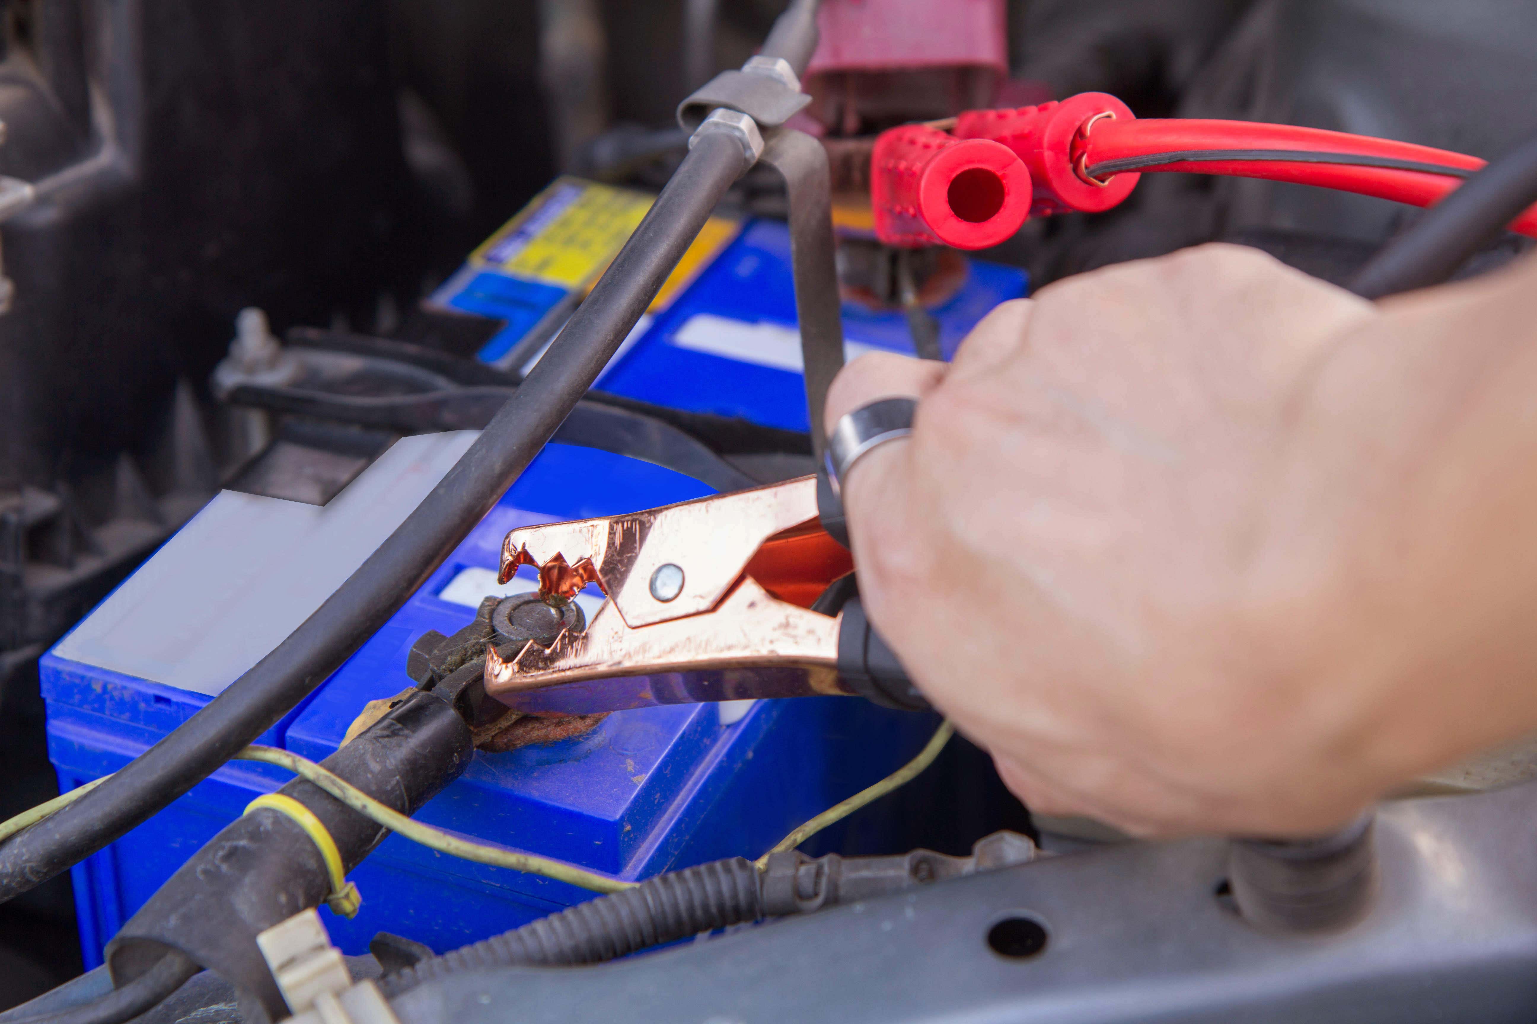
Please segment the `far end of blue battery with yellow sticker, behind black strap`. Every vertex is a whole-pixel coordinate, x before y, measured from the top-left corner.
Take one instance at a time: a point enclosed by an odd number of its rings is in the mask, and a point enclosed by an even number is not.
[[[509,221],[432,302],[506,321],[480,358],[527,373],[586,287],[639,223],[650,197],[561,178]],[[622,213],[622,215],[621,215]],[[555,244],[564,241],[564,244]],[[928,312],[945,358],[994,306],[1025,295],[1016,267],[951,261]],[[558,258],[563,256],[563,258]],[[913,355],[907,316],[844,302],[844,352]],[[598,378],[604,391],[765,427],[807,430],[784,221],[713,216]]]

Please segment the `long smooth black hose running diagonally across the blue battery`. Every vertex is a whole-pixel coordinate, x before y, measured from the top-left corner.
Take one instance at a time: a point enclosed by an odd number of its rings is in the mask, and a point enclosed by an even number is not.
[[[184,725],[0,844],[0,901],[89,857],[189,791],[373,636],[539,453],[745,169],[735,137],[699,137],[523,387],[406,522],[298,629]]]

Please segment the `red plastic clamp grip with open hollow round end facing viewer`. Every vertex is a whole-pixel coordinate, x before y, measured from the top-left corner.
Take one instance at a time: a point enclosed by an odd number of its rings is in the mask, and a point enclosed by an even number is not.
[[[887,246],[996,246],[1030,215],[1030,172],[1007,146],[924,124],[882,132],[870,166],[876,236]]]

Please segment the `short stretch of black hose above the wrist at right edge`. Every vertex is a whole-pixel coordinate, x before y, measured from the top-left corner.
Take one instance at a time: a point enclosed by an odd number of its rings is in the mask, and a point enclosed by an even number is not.
[[[1362,267],[1349,290],[1380,299],[1440,284],[1537,203],[1537,138],[1496,160],[1428,209]]]

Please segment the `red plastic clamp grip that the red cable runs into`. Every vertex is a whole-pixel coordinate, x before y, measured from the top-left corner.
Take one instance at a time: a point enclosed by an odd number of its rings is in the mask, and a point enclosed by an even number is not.
[[[1131,195],[1140,178],[1117,173],[1102,184],[1082,173],[1084,144],[1104,118],[1134,121],[1136,115],[1107,92],[1081,92],[1017,111],[968,111],[956,118],[954,137],[1008,146],[1030,169],[1031,213],[1100,213]]]

